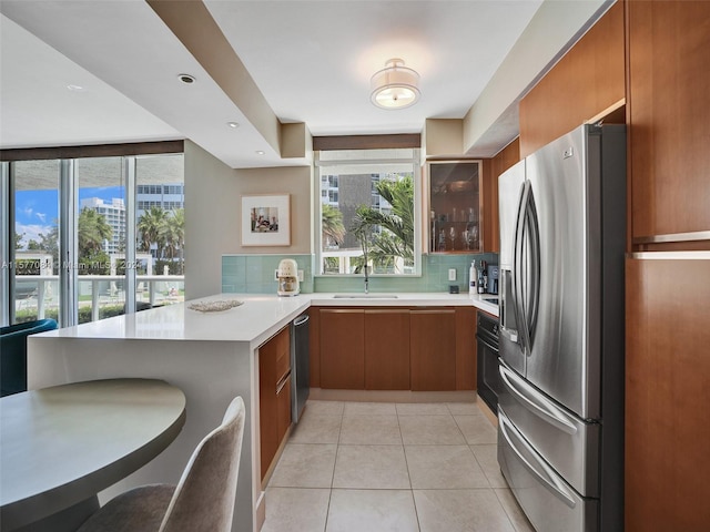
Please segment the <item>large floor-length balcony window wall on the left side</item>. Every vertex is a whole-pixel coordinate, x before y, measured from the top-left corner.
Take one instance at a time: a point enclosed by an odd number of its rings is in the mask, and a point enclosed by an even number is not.
[[[0,165],[1,325],[71,326],[183,299],[182,153],[28,152]]]

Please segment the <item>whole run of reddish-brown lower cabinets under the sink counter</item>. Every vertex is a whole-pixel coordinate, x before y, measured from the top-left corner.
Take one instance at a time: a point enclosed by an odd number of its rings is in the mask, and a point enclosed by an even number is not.
[[[312,368],[318,370],[312,382],[321,388],[476,389],[474,307],[321,307],[314,314]]]

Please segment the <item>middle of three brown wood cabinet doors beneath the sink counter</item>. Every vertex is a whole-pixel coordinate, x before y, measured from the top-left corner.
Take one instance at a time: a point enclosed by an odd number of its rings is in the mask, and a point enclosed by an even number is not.
[[[409,389],[409,310],[365,310],[365,389]]]

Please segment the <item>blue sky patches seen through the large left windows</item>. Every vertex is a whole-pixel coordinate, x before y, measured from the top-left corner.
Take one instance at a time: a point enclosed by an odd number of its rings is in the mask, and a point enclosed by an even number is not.
[[[55,225],[59,212],[58,190],[17,191],[14,204],[14,231],[24,233],[22,247],[30,241],[40,242],[40,233],[47,234]],[[100,197],[110,203],[114,197],[124,197],[124,190],[120,186],[81,187],[79,188],[79,205],[88,197]]]

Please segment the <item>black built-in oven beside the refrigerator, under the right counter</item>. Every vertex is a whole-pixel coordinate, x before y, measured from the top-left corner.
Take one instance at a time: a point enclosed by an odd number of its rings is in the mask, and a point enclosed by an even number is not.
[[[498,318],[481,310],[476,318],[478,396],[498,415]]]

